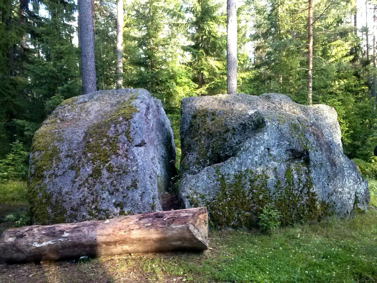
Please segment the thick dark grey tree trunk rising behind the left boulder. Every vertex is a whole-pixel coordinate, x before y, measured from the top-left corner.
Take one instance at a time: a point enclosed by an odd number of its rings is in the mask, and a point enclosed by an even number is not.
[[[94,62],[92,2],[88,0],[78,0],[78,10],[83,94],[87,94],[97,90]]]

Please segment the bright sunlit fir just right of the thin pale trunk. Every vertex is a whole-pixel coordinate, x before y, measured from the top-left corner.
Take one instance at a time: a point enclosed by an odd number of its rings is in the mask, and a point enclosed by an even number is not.
[[[167,108],[179,106],[182,97],[195,93],[178,38],[184,28],[181,3],[136,0],[127,10],[125,85],[148,89]]]

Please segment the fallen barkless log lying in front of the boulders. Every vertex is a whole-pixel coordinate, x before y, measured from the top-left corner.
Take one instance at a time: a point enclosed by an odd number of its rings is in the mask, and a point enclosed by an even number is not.
[[[116,217],[79,223],[12,228],[0,237],[0,258],[8,263],[80,256],[208,248],[207,209]]]

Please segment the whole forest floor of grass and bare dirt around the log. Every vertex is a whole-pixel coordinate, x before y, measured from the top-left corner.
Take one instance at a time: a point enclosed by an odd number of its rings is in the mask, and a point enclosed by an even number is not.
[[[15,210],[27,204],[25,183],[0,184],[0,191],[0,212],[5,203]],[[371,194],[371,203],[376,200]],[[203,253],[0,264],[0,282],[377,282],[377,209],[372,207],[367,213],[281,228],[272,235],[211,231],[209,243],[211,249]]]

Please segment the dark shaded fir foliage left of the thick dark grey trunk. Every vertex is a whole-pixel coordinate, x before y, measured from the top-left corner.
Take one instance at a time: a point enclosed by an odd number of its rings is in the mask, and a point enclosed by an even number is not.
[[[80,94],[75,11],[73,0],[0,4],[0,158],[16,139],[28,151],[46,115]]]

